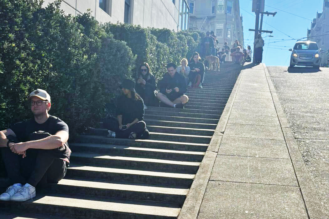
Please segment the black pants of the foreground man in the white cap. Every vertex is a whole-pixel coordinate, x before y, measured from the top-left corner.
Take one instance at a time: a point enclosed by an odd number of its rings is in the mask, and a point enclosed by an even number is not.
[[[36,187],[56,183],[66,174],[66,162],[43,149],[27,149],[26,157],[1,148],[2,159],[11,184],[28,183]]]

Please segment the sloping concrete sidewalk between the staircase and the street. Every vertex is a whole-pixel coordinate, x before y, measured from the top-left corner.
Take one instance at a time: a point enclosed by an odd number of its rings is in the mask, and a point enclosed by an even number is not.
[[[244,68],[178,218],[324,219],[266,66]]]

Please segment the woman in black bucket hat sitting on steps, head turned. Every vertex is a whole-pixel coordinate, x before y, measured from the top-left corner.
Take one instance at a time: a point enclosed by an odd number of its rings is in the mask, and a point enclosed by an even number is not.
[[[135,82],[123,79],[122,95],[118,97],[116,115],[117,124],[107,127],[109,138],[140,138],[146,131],[144,119],[144,102],[135,91]],[[111,125],[110,125],[111,126]]]

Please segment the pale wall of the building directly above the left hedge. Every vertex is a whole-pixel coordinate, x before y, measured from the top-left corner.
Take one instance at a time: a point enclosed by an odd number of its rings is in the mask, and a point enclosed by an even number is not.
[[[43,6],[54,1],[45,0]],[[90,9],[102,23],[119,21],[174,31],[189,28],[187,0],[62,0],[61,9],[73,15]]]

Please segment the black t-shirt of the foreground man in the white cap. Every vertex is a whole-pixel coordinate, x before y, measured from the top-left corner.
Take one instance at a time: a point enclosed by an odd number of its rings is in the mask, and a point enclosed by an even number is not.
[[[29,141],[29,135],[35,131],[44,131],[51,135],[56,134],[58,131],[67,131],[68,133],[68,126],[66,123],[51,115],[49,115],[49,118],[42,124],[37,123],[35,119],[32,118],[15,123],[9,128],[13,130],[17,139],[21,142]]]

